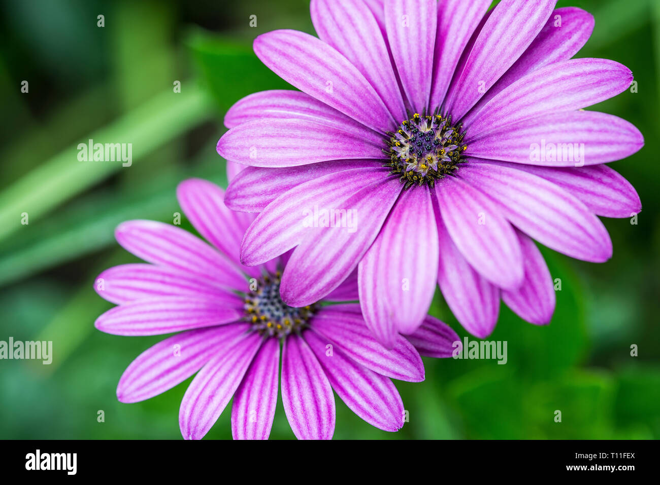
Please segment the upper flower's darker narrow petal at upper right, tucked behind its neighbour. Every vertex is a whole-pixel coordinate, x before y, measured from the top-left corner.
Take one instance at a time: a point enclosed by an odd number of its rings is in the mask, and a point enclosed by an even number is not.
[[[559,16],[559,18],[557,18]],[[560,20],[561,24],[558,24]],[[488,101],[519,78],[537,69],[576,55],[591,37],[593,15],[576,7],[556,9],[543,30],[508,71],[484,94],[473,111],[479,111]]]

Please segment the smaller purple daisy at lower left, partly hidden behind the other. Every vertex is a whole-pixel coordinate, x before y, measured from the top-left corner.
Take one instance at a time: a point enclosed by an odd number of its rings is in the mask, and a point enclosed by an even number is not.
[[[233,396],[234,438],[265,439],[282,353],[282,402],[298,438],[333,436],[333,389],[366,422],[401,428],[403,403],[390,378],[424,380],[413,343],[422,355],[450,357],[456,333],[428,317],[387,351],[356,303],[286,306],[279,285],[288,254],[253,268],[239,262],[240,241],[254,217],[228,210],[224,191],[207,181],[184,181],[177,194],[195,229],[215,247],[173,225],[125,222],[117,241],[150,264],[116,266],[96,279],[98,294],[119,305],[102,314],[96,328],[115,335],[180,332],[129,365],[117,399],[149,399],[199,371],[181,403],[183,437],[205,436]],[[357,294],[357,280],[348,279],[325,300],[356,300]]]

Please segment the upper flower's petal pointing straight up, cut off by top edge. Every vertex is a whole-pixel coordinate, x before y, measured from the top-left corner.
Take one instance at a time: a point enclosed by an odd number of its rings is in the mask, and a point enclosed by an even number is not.
[[[435,0],[386,0],[385,28],[403,90],[414,110],[428,105],[436,43]]]

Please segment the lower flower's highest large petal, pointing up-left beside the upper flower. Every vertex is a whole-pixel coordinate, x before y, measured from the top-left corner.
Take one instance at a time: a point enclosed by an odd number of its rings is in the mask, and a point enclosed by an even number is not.
[[[188,179],[176,188],[176,196],[193,227],[225,254],[240,269],[251,276],[259,276],[257,268],[240,264],[243,235],[254,220],[253,215],[234,212],[224,205],[224,190],[201,180]]]

